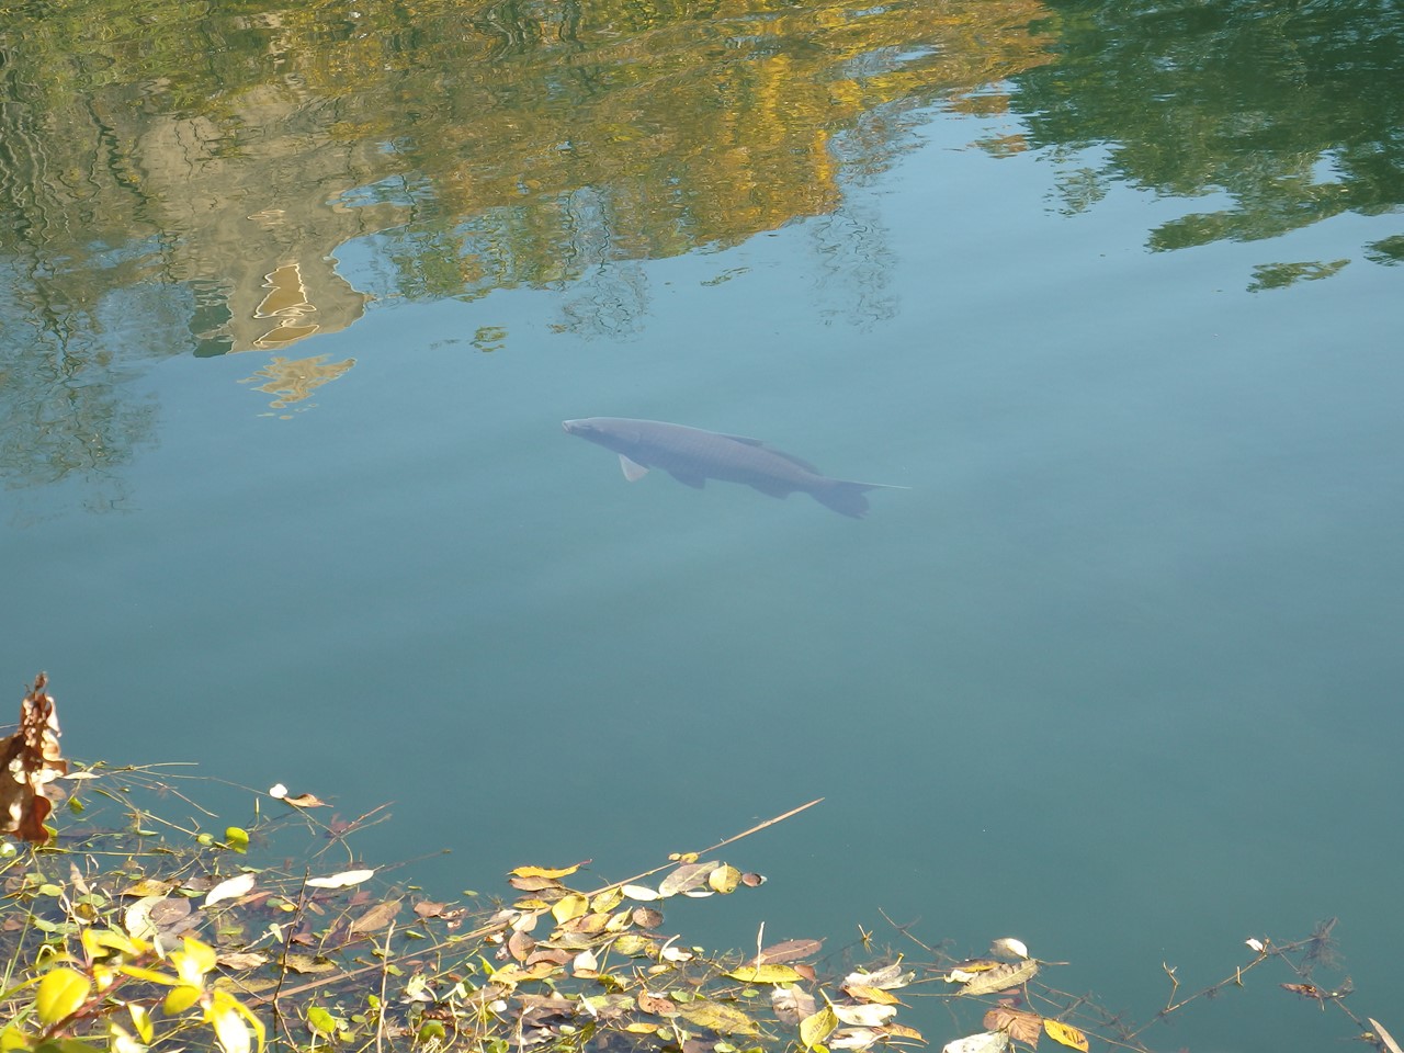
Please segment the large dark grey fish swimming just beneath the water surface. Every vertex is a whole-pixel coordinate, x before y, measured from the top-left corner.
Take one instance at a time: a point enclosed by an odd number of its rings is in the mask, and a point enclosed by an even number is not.
[[[708,479],[746,483],[771,497],[803,490],[835,512],[862,518],[868,511],[863,491],[886,483],[851,483],[830,479],[799,458],[782,453],[760,439],[629,417],[585,417],[563,423],[571,435],[590,439],[619,455],[630,483],[650,468],[661,468],[680,483],[702,489]],[[904,489],[904,487],[894,487]]]

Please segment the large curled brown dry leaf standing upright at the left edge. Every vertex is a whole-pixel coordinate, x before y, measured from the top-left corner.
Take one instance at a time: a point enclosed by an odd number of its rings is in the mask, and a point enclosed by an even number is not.
[[[39,674],[20,703],[20,730],[0,740],[0,833],[42,844],[49,840],[44,820],[53,810],[49,786],[67,774],[59,751],[59,717],[53,698],[44,694],[49,678]]]

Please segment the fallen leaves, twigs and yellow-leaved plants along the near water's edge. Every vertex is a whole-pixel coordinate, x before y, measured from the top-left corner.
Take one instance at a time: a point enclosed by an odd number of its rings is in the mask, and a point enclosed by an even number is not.
[[[819,800],[622,882],[590,882],[590,861],[518,866],[507,899],[448,903],[388,885],[351,848],[380,809],[323,820],[316,795],[274,786],[250,790],[251,820],[225,826],[187,792],[199,781],[168,768],[69,771],[42,675],[0,746],[0,823],[14,838],[0,851],[6,1053],[995,1053],[1040,1039],[1144,1052],[1157,1022],[1257,981],[1262,966],[1286,994],[1401,1053],[1346,1005],[1348,980],[1316,977],[1331,966],[1334,922],[1302,941],[1250,938],[1241,965],[1192,994],[1167,967],[1165,1008],[1140,1025],[1060,990],[1057,963],[1014,938],[962,959],[900,925],[906,946],[859,929],[837,951],[767,943],[762,927],[754,951],[716,952],[670,929],[664,907],[764,883],[720,852]],[[932,1002],[948,1011],[939,1035]]]

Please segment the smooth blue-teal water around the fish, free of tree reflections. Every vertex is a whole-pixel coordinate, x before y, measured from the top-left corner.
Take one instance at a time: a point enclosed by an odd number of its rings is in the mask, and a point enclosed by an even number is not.
[[[362,847],[451,848],[413,866],[444,894],[521,862],[622,878],[823,796],[730,849],[771,883],[673,921],[1016,935],[1144,1019],[1163,962],[1209,983],[1244,938],[1339,915],[1352,1005],[1390,1024],[1398,197],[1161,246],[1241,187],[1040,142],[1056,110],[1021,100],[1081,69],[995,84],[1007,114],[907,111],[834,209],[729,246],[397,296],[413,225],[351,237],[336,272],[372,299],[298,352],[355,365],[291,407],[240,383],[271,351],[143,359],[122,324],[164,307],[114,291],[111,397],[145,430],[111,470],[11,479],[0,667],[49,670],[73,755],[393,800]],[[1349,183],[1337,164],[1314,178]],[[1077,178],[1095,199],[1071,208]],[[855,522],[629,484],[562,431],[584,416],[911,489]],[[1279,979],[1148,1040],[1349,1038]],[[962,1033],[935,1019],[936,1047]]]

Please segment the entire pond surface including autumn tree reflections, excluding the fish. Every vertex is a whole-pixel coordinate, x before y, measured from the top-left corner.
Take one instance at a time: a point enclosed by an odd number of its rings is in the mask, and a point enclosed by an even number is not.
[[[1404,1029],[1396,6],[149,7],[0,31],[0,668],[72,754],[395,800],[444,894],[824,796],[671,921],[1147,1018],[1339,915]],[[1153,1043],[1351,1036],[1286,979]]]

